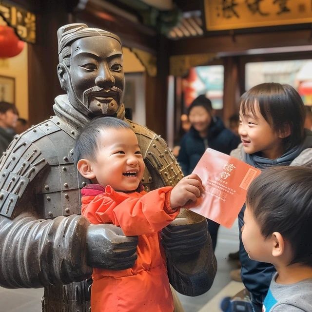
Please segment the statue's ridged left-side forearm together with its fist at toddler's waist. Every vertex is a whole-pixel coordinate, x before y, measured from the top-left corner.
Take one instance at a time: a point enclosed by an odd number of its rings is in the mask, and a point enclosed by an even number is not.
[[[21,214],[0,215],[0,285],[36,288],[68,284],[91,275],[91,267],[131,268],[137,236],[125,236],[112,224],[90,225],[81,215],[53,220]]]

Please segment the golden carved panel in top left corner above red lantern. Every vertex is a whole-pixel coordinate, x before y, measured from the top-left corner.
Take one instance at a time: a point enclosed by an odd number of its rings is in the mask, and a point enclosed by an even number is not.
[[[0,16],[15,28],[20,39],[36,42],[36,16],[24,9],[0,1]]]

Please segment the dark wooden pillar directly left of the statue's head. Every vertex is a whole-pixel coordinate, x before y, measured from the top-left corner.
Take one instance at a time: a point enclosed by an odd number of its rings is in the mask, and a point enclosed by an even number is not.
[[[69,14],[54,1],[46,1],[36,16],[36,44],[28,44],[28,108],[31,124],[54,115],[54,98],[65,94],[57,75],[57,30],[70,22]]]

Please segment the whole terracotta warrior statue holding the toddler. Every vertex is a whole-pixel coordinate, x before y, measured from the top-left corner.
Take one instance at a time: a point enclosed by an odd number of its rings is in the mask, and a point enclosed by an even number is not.
[[[59,28],[58,76],[66,95],[56,116],[14,138],[0,159],[0,286],[44,287],[42,311],[88,312],[92,267],[123,270],[137,258],[137,237],[80,215],[80,176],[72,148],[94,117],[125,119],[120,39],[85,24]],[[125,119],[126,120],[126,119]],[[146,163],[145,189],[182,177],[165,141],[128,121]],[[160,121],[159,121],[160,122]],[[162,231],[172,286],[186,295],[209,290],[216,262],[205,218],[187,210]]]

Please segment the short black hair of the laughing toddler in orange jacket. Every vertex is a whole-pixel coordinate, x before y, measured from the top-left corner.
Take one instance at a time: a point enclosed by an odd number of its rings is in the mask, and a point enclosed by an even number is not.
[[[77,165],[82,158],[96,161],[101,132],[105,129],[130,129],[129,123],[115,117],[98,117],[91,120],[78,136],[73,150],[73,159]]]

